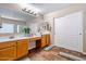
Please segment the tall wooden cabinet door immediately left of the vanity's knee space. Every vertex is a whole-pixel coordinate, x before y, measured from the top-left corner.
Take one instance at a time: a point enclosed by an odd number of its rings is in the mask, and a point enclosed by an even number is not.
[[[28,40],[17,41],[17,57],[22,57],[28,53]]]

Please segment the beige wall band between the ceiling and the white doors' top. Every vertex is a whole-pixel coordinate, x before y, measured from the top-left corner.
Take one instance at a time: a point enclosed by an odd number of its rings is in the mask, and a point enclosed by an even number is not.
[[[73,13],[73,12],[85,10],[85,5],[86,4],[73,4],[73,5],[70,5],[70,7],[65,8],[65,9],[62,9],[62,10],[54,11],[52,13],[46,14],[45,18],[61,17],[61,16],[64,16],[66,14]]]

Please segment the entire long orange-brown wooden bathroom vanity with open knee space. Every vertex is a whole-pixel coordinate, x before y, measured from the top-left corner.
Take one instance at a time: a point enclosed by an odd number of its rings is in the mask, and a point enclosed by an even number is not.
[[[32,41],[36,41],[36,48],[44,48],[50,44],[50,35],[0,40],[0,61],[19,60],[29,54],[28,49]]]

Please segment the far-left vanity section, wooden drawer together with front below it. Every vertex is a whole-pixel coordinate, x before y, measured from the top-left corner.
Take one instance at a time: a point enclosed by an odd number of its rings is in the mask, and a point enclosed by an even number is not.
[[[11,61],[16,59],[16,42],[0,42],[0,61]]]

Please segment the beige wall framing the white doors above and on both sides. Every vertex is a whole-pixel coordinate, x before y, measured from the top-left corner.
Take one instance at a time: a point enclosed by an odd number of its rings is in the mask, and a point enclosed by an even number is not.
[[[74,4],[74,5],[70,5],[67,7],[66,9],[62,9],[60,11],[54,11],[52,13],[49,13],[49,14],[46,14],[45,15],[45,20],[47,22],[50,22],[52,23],[52,28],[53,28],[53,20],[57,17],[61,17],[61,16],[64,16],[64,15],[67,15],[67,14],[71,14],[71,13],[74,13],[74,12],[78,12],[78,11],[85,11],[84,12],[84,51],[86,52],[86,9],[85,9],[86,4]],[[52,41],[54,42],[53,40],[54,38],[54,28],[52,30]]]

